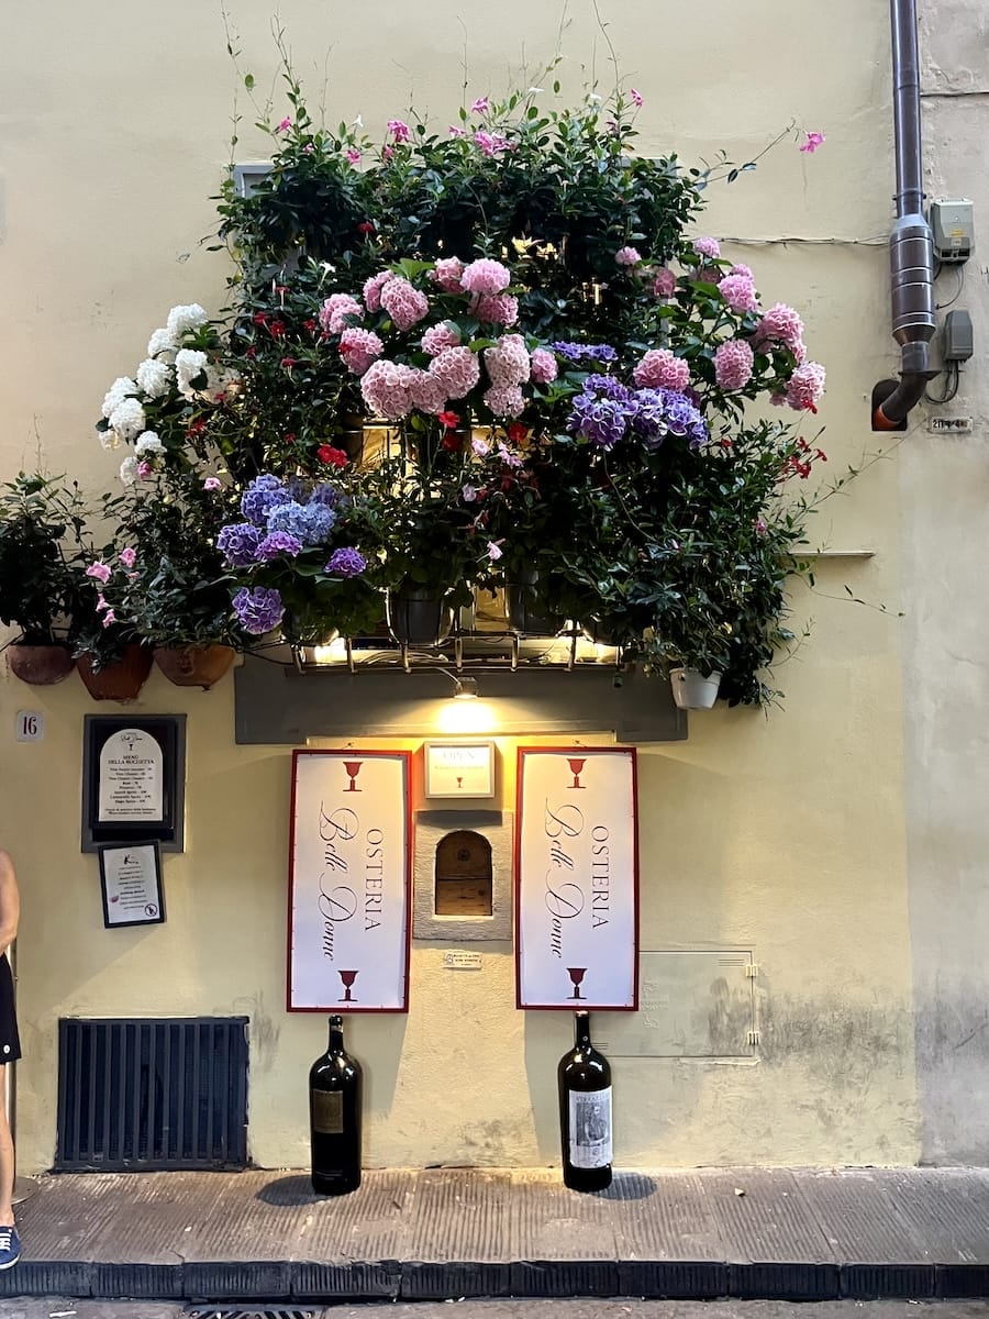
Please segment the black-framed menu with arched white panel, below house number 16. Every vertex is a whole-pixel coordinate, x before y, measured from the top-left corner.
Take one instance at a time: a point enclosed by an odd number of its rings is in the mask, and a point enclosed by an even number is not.
[[[185,715],[87,715],[82,849],[156,842],[182,851]]]

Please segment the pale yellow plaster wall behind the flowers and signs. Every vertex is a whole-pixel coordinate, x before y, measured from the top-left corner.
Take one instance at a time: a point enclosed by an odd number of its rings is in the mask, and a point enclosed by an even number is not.
[[[724,146],[746,160],[791,120],[827,132],[818,156],[789,140],[754,177],[715,189],[704,228],[745,240],[731,255],[756,268],[766,302],[803,310],[828,365],[819,419],[837,474],[874,447],[866,400],[895,361],[881,244],[893,187],[885,3],[810,8],[793,36],[769,0],[744,12],[699,0],[688,24],[645,0],[600,9],[646,98],[642,150],[690,161]],[[231,11],[243,67],[264,88],[270,11]],[[463,7],[463,26],[460,12],[450,0],[281,5],[314,92],[330,49],[332,120],[360,112],[372,129],[410,88],[439,123],[452,117],[464,42],[471,96],[504,88],[522,53],[531,77],[553,54],[556,7],[506,0],[496,21]],[[608,78],[607,50],[587,0],[564,26],[560,77],[576,95],[582,66]],[[91,430],[104,389],[171,305],[222,306],[223,257],[199,240],[228,158],[224,41],[199,0],[57,0],[22,9],[8,32],[4,477],[33,466],[40,442],[50,468],[107,484],[117,459]],[[264,158],[249,128],[237,158]],[[775,241],[785,236],[814,241]],[[818,591],[796,601],[814,630],[779,670],[785,711],[719,708],[691,719],[686,744],[641,751],[642,944],[750,947],[762,1045],[745,1064],[616,1063],[620,1163],[916,1157],[897,517],[895,454],[816,516],[822,543],[876,555],[823,563]],[[851,604],[845,584],[890,612]],[[45,712],[44,741],[15,741],[21,708]],[[79,853],[82,719],[96,708],[75,677],[46,691],[0,678],[0,838],[24,892],[21,1169],[51,1163],[57,1022],[76,1013],[247,1013],[252,1157],[303,1165],[305,1075],[324,1028],[284,1010],[290,749],[233,744],[231,678],[190,694],[153,673],[136,711],[189,714],[186,852],[165,860],[166,925],[105,931],[96,860]],[[501,749],[510,807],[513,744]],[[472,975],[444,972],[442,951],[413,946],[407,1018],[349,1028],[369,1082],[368,1163],[554,1162],[567,1020],[514,1010],[509,944],[480,946]]]

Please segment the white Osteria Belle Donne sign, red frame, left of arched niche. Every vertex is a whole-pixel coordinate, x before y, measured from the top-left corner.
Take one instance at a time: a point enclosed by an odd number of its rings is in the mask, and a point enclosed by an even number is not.
[[[411,753],[293,753],[289,1012],[407,1012]]]

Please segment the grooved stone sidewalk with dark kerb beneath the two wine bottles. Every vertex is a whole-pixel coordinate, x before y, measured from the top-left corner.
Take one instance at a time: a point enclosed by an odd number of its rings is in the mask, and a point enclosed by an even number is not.
[[[369,1171],[46,1177],[0,1297],[989,1297],[989,1170]]]

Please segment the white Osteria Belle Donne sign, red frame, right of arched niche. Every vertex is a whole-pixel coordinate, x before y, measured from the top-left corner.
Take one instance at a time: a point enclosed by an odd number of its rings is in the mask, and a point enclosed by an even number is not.
[[[634,749],[520,747],[517,819],[517,1006],[634,1012]]]

